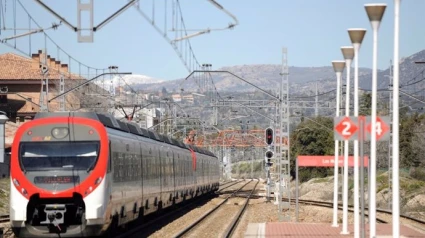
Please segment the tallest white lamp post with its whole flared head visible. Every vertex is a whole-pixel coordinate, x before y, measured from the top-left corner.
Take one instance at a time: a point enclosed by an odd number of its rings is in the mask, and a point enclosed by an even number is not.
[[[366,13],[373,30],[373,63],[372,63],[372,125],[370,139],[370,205],[369,232],[376,236],[376,98],[378,86],[378,30],[384,16],[386,4],[365,4]]]

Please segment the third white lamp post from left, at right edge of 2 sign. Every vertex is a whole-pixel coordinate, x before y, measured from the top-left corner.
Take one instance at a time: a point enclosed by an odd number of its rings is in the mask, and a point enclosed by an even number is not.
[[[354,116],[359,116],[359,50],[362,44],[363,38],[366,34],[366,29],[362,28],[350,28],[348,29],[348,35],[350,36],[351,43],[354,47]],[[359,190],[359,179],[358,173],[356,176],[356,167],[359,164],[359,141],[354,141],[354,194]],[[364,237],[364,158],[361,159],[361,170],[360,170],[360,201],[361,201],[361,224],[362,224],[362,237]],[[358,171],[358,169],[357,169]],[[359,199],[359,196],[354,195],[354,204],[355,201]],[[358,212],[357,212],[358,214]],[[354,219],[355,220],[355,219]],[[356,234],[356,229],[354,230],[354,234]]]

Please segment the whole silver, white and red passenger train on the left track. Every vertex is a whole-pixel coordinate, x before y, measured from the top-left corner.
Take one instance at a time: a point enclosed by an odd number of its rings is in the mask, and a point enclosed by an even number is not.
[[[16,132],[10,181],[18,237],[101,236],[216,191],[219,161],[109,115],[38,113]]]

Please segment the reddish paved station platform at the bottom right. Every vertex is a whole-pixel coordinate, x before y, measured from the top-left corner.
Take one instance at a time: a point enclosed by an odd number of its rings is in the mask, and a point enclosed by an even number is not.
[[[369,237],[369,227],[366,228],[366,237]],[[331,224],[323,223],[250,223],[245,232],[247,238],[265,237],[291,237],[291,238],[313,238],[313,237],[354,237],[353,226],[348,226],[350,234],[342,235],[341,227],[332,227]],[[391,224],[376,224],[376,237],[392,237]],[[425,237],[424,231],[407,226],[400,226],[400,237]]]

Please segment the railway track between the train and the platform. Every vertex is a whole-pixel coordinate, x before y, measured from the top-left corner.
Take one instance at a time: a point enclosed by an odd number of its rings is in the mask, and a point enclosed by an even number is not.
[[[241,186],[238,190],[234,191],[233,193],[231,193],[229,196],[227,196],[222,202],[220,202],[218,205],[216,205],[213,209],[209,210],[207,213],[205,213],[203,216],[201,216],[199,219],[197,219],[195,222],[193,222],[192,224],[190,224],[189,226],[187,226],[186,228],[184,228],[182,231],[180,231],[179,233],[177,233],[174,237],[182,237],[185,235],[188,235],[190,232],[194,231],[194,228],[199,226],[202,222],[206,221],[207,218],[211,217],[213,213],[215,213],[220,207],[223,207],[223,205],[230,199],[230,198],[234,198],[237,197],[236,195],[239,195],[241,193],[243,193],[245,195],[245,203],[244,205],[239,209],[239,211],[236,213],[236,216],[233,217],[232,221],[230,222],[230,224],[228,225],[228,227],[226,228],[226,230],[224,231],[224,235],[223,237],[230,237],[233,233],[233,231],[236,229],[237,224],[240,220],[240,218],[242,217],[244,211],[247,208],[249,199],[251,198],[251,195],[253,194],[253,192],[255,191],[257,185],[258,185],[258,181],[256,181],[254,188],[251,189],[250,191],[242,191],[242,189],[247,186],[249,183],[251,183],[253,181],[249,181],[247,183],[245,183],[243,186]],[[230,211],[229,211],[230,212]]]

